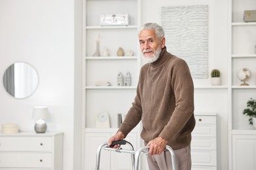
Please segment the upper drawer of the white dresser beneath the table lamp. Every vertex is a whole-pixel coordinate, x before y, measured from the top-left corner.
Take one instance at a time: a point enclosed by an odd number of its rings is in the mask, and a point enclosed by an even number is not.
[[[52,151],[52,137],[0,137],[0,151]]]

